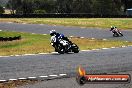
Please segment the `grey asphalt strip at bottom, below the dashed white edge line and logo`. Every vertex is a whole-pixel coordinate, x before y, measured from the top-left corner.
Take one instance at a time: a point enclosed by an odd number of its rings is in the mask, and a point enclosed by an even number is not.
[[[131,74],[132,72],[123,72],[121,74]],[[34,85],[25,85],[19,88],[132,88],[132,83],[130,84],[85,84],[80,86],[76,83],[75,78],[60,79],[60,80],[50,80],[39,82]]]

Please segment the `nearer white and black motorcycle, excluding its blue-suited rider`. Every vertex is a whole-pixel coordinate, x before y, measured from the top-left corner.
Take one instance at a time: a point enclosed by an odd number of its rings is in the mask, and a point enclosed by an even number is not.
[[[55,48],[55,51],[64,54],[68,52],[79,53],[79,47],[75,43],[69,43],[66,40],[59,39],[59,43],[56,44],[56,38],[52,38],[51,45]]]

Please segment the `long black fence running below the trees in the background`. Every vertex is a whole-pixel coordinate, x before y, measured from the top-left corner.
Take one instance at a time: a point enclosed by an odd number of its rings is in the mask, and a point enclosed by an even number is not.
[[[0,18],[131,18],[127,15],[93,15],[93,14],[1,14]]]

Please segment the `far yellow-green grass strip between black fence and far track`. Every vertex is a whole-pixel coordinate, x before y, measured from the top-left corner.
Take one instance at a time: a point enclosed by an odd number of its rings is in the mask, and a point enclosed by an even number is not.
[[[132,18],[1,18],[0,22],[132,29]]]

